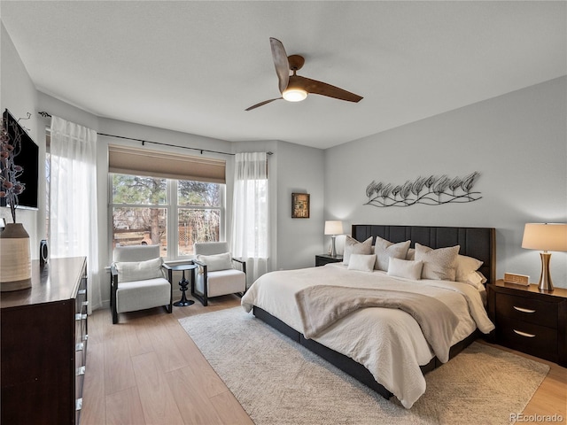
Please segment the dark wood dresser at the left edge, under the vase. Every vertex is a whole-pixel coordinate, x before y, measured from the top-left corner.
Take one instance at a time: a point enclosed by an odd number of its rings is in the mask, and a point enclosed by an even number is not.
[[[2,292],[5,424],[77,424],[87,352],[84,257],[32,261],[32,287]]]

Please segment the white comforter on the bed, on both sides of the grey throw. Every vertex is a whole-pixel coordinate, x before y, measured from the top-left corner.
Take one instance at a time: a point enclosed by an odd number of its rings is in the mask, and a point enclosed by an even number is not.
[[[380,271],[348,270],[338,263],[264,274],[246,292],[242,305],[246,312],[256,305],[304,333],[294,294],[316,284],[408,290],[435,297],[461,319],[452,344],[469,336],[476,328],[484,333],[494,328],[480,293],[467,283],[411,281],[392,278]],[[419,325],[408,313],[397,309],[364,308],[337,321],[313,339],[364,365],[377,383],[399,398],[406,408],[413,406],[425,392],[420,365],[429,363],[433,352]]]

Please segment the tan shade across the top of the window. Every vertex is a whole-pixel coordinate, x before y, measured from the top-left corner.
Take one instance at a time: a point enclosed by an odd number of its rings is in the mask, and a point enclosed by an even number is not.
[[[226,183],[226,161],[129,146],[108,146],[108,171],[176,180]]]

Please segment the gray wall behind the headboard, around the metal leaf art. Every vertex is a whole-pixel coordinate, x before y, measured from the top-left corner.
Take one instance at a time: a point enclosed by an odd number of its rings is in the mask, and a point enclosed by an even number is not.
[[[567,77],[471,104],[325,151],[325,217],[352,224],[496,228],[497,277],[529,274],[540,256],[521,248],[527,222],[567,221]],[[379,119],[379,117],[377,117]],[[369,182],[480,172],[469,204],[363,205]],[[555,286],[567,288],[567,253],[554,252]]]

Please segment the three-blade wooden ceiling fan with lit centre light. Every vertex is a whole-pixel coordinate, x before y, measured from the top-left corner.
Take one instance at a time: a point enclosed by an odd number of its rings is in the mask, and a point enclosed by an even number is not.
[[[299,69],[305,63],[305,58],[299,55],[287,56],[283,44],[276,38],[270,37],[269,43],[272,48],[272,58],[274,58],[274,65],[276,66],[277,79],[279,80],[279,89],[282,97],[275,97],[268,99],[259,104],[253,104],[246,111],[251,111],[264,104],[269,104],[275,100],[284,99],[289,102],[299,102],[307,97],[307,94],[322,95],[327,97],[334,97],[340,100],[347,100],[349,102],[359,102],[361,96],[355,95],[350,91],[339,89],[338,87],[331,86],[326,82],[311,80],[297,74]],[[292,74],[290,75],[290,71]]]

